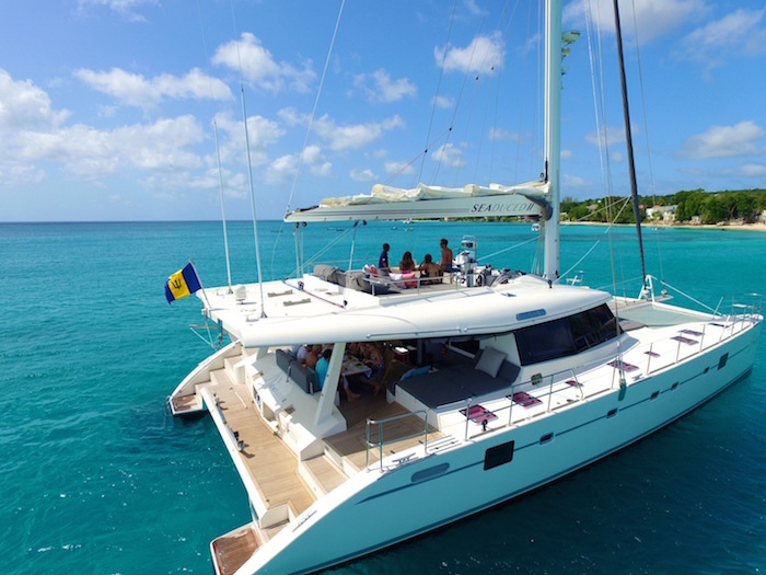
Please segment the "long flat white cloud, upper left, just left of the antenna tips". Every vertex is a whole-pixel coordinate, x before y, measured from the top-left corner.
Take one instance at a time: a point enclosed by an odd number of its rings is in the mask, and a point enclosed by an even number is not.
[[[141,74],[113,68],[95,72],[81,68],[74,76],[94,90],[116,97],[124,104],[147,107],[165,97],[194,100],[232,100],[231,90],[218,78],[202,73],[198,68],[183,77],[161,74],[147,79]]]

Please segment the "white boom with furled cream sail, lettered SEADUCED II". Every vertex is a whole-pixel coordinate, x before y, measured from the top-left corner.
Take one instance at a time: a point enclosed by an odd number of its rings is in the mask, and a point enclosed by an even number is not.
[[[375,184],[371,194],[325,198],[318,206],[299,208],[287,222],[341,220],[401,220],[407,218],[483,218],[486,216],[550,217],[550,183],[529,182],[515,186],[468,184],[441,187],[419,184],[403,189]]]

